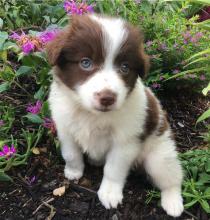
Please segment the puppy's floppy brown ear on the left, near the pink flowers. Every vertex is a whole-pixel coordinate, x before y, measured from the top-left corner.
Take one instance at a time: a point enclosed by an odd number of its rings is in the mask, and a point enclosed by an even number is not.
[[[61,50],[65,47],[67,36],[67,29],[60,31],[55,39],[46,45],[48,61],[52,66],[57,65]]]

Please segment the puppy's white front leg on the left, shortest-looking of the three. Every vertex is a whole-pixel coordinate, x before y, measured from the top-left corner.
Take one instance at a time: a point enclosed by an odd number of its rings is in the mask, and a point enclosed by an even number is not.
[[[65,177],[69,180],[78,180],[84,171],[82,152],[69,134],[62,132],[59,134],[59,139],[61,141],[61,153],[66,162]]]

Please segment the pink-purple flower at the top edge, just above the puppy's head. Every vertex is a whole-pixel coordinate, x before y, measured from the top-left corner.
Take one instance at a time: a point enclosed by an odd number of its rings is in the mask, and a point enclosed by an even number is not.
[[[78,14],[82,15],[85,13],[93,13],[93,6],[87,5],[86,1],[82,1],[81,3],[76,3],[75,0],[65,0],[63,4],[64,9],[68,14]]]

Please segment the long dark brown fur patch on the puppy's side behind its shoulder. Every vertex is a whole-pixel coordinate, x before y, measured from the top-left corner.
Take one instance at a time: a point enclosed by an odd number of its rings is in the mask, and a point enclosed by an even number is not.
[[[141,134],[140,139],[144,141],[149,135],[155,131],[158,126],[159,122],[159,107],[158,101],[152,92],[149,89],[145,89],[146,96],[147,96],[147,116],[146,122],[144,126],[144,132]]]

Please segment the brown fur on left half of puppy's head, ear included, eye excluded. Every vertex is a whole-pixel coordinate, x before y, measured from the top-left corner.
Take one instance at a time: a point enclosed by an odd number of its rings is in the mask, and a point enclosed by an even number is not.
[[[48,59],[56,65],[56,74],[71,89],[91,77],[104,61],[102,30],[87,15],[73,16],[71,25],[47,46]],[[79,62],[88,57],[94,63],[91,71],[82,70]]]

